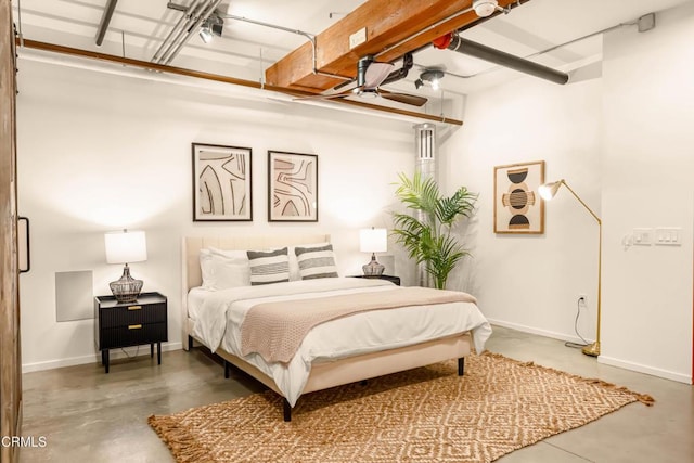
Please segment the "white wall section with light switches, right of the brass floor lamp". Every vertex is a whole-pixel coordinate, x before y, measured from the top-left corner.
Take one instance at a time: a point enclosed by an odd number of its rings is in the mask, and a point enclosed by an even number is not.
[[[605,38],[601,361],[692,377],[694,221],[694,4],[657,27]],[[634,246],[635,227],[680,227],[683,245]]]

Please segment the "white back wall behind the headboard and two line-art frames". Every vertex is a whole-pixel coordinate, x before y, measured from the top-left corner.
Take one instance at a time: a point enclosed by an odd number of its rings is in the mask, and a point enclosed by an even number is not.
[[[125,74],[20,60],[18,209],[31,220],[31,271],[21,276],[25,371],[97,360],[93,320],[55,321],[54,281],[91,270],[94,293],[110,294],[121,267],[105,263],[105,231],[146,231],[149,260],[131,272],[143,291],[169,297],[167,347],[179,348],[183,235],[326,232],[340,272],[361,273],[369,256],[358,252],[358,229],[389,223],[390,183],[413,170],[412,121]],[[192,142],[253,149],[253,223],[192,221]],[[318,223],[268,223],[268,150],[319,155]]]

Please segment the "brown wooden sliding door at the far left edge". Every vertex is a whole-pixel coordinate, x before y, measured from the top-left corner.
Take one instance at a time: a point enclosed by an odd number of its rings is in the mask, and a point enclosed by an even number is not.
[[[12,4],[0,0],[0,436],[18,436],[22,420],[22,358],[17,269],[16,81]],[[0,462],[15,462],[20,449],[0,446]]]

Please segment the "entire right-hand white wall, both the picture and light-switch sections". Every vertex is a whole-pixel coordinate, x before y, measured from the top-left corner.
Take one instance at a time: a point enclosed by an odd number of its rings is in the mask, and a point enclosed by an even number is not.
[[[566,190],[541,236],[494,235],[493,167],[544,159],[603,219],[599,361],[692,380],[694,4],[657,27],[607,35],[603,77],[565,87],[523,78],[468,98],[463,130],[444,144],[446,185],[480,192],[466,229],[473,259],[455,285],[499,324],[578,340],[595,337],[597,227]],[[625,249],[633,228],[680,227],[683,244]],[[577,352],[577,355],[580,355]]]

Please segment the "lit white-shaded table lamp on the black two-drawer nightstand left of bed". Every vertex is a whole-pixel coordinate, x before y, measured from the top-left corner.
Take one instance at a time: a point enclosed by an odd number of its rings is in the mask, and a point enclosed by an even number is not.
[[[116,231],[104,234],[107,263],[125,263],[119,280],[108,283],[118,303],[134,303],[142,290],[142,280],[130,276],[128,263],[147,260],[146,237],[143,231]]]

